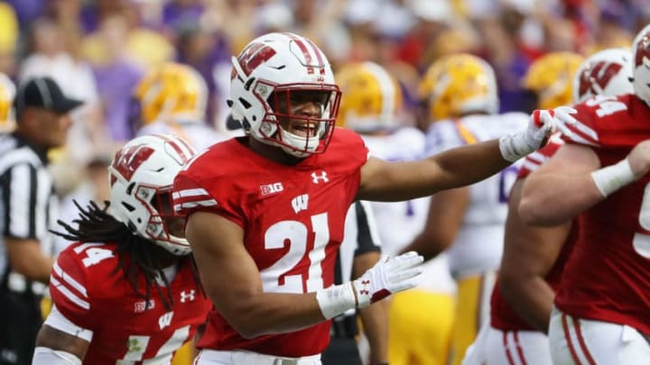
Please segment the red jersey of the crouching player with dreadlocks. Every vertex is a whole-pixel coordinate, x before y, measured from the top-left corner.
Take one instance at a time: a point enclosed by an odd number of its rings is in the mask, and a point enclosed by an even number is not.
[[[124,256],[126,262],[129,257]],[[51,273],[50,293],[60,314],[93,332],[84,364],[155,359],[170,363],[174,351],[190,341],[206,321],[209,299],[197,287],[190,260],[182,260],[170,283],[173,306],[165,309],[154,287],[145,309],[141,295],[117,269],[115,243],[73,243],[61,251]],[[163,295],[168,290],[161,286]],[[169,300],[169,299],[167,299]]]

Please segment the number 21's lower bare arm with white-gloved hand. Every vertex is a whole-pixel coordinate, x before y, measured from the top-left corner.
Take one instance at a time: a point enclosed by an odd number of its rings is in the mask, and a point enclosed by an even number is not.
[[[188,217],[186,235],[212,303],[245,337],[296,331],[413,287],[413,277],[420,273],[416,266],[422,262],[412,252],[378,262],[353,282],[317,292],[265,292],[239,225],[218,214],[197,212]]]

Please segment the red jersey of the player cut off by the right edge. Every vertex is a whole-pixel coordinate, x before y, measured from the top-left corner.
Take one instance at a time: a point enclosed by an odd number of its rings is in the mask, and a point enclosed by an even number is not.
[[[575,107],[568,143],[590,146],[602,166],[650,139],[650,108],[634,95],[596,97]],[[650,334],[650,174],[580,215],[580,233],[555,305],[568,315],[627,324]]]

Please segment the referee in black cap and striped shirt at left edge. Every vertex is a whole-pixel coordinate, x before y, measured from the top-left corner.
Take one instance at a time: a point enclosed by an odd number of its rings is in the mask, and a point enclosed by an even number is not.
[[[47,152],[65,145],[81,102],[38,77],[18,87],[13,105],[15,130],[0,134],[0,364],[29,364],[58,209]]]

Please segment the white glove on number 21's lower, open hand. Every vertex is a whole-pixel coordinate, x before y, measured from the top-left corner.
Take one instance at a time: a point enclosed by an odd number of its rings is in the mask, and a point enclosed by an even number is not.
[[[415,251],[399,256],[385,256],[372,269],[352,282],[357,295],[357,307],[369,306],[378,300],[415,287],[424,258]]]

